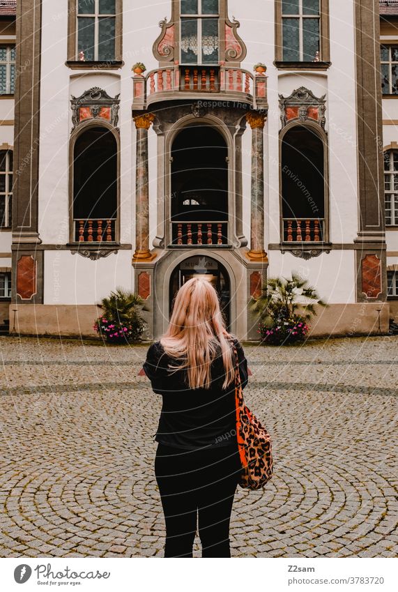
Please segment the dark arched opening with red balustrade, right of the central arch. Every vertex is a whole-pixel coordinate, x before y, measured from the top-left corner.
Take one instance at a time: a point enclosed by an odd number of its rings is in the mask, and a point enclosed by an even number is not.
[[[307,126],[282,138],[282,241],[326,241],[324,146]]]

